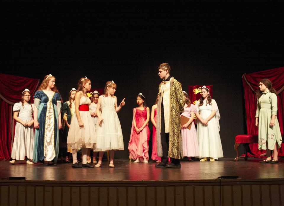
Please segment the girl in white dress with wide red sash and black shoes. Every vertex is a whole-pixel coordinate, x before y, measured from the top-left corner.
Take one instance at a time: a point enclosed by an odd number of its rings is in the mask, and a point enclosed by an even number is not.
[[[81,78],[78,82],[78,89],[75,95],[75,116],[72,118],[67,136],[67,145],[72,148],[73,168],[93,167],[87,163],[88,148],[93,148],[96,144],[96,131],[89,112],[91,100],[87,96],[87,91],[91,90],[91,81]],[[82,148],[82,166],[77,161],[77,149]]]

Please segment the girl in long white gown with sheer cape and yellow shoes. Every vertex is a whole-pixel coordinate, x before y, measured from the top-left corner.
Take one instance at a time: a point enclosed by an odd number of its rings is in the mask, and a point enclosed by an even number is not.
[[[220,139],[220,113],[217,103],[211,99],[209,89],[203,86],[201,89],[201,98],[195,104],[197,106],[197,138],[199,145],[200,161],[214,161],[223,157],[222,144]]]

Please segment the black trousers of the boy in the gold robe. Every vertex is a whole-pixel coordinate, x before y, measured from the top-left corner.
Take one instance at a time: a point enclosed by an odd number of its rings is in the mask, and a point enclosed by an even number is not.
[[[164,107],[161,105],[161,143],[162,143],[162,162],[167,163],[168,161],[168,151],[169,151],[169,137],[170,133],[165,132],[165,117],[164,117]],[[171,158],[172,163],[180,164],[179,159]]]

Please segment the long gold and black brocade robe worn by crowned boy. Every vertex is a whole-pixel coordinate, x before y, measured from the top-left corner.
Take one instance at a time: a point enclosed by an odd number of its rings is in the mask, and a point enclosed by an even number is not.
[[[162,143],[161,143],[161,85],[159,85],[158,107],[157,107],[157,153],[158,156],[163,156]],[[181,138],[181,125],[180,114],[184,112],[184,95],[181,84],[173,77],[170,79],[170,127],[169,127],[169,151],[168,156],[175,159],[180,159],[182,153],[182,138]],[[183,156],[183,154],[181,154]]]

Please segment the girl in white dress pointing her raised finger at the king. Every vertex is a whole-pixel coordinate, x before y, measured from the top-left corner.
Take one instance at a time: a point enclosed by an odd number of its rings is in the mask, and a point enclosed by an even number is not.
[[[104,95],[98,100],[96,114],[99,117],[99,127],[97,129],[97,144],[93,151],[99,152],[99,162],[96,167],[101,166],[101,161],[105,151],[109,151],[109,166],[114,167],[113,158],[115,150],[124,150],[122,131],[117,112],[125,105],[125,98],[117,107],[117,98],[114,96],[116,84],[107,81],[104,87]],[[102,112],[100,114],[99,109]]]

